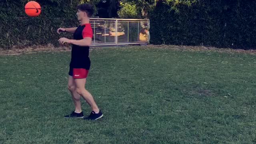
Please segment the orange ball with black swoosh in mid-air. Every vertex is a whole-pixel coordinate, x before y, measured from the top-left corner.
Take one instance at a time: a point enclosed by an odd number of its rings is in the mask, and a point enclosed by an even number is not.
[[[28,16],[39,16],[41,13],[41,6],[35,1],[30,1],[25,5],[25,12]]]

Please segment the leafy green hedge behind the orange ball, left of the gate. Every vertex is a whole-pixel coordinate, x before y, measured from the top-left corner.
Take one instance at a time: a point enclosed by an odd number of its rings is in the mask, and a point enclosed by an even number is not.
[[[24,12],[26,2],[30,0],[4,0],[0,2],[0,48],[13,46],[54,44],[62,36],[58,35],[60,27],[74,27],[79,23],[76,19],[76,6],[82,0],[37,0],[42,6],[39,17],[28,17]]]

